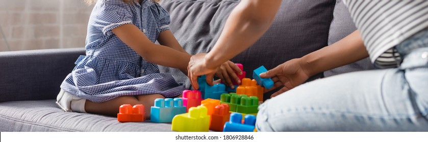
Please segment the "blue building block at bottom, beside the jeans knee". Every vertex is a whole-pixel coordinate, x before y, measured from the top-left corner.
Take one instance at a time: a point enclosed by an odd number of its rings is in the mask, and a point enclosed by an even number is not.
[[[253,132],[256,128],[256,116],[246,115],[242,123],[242,115],[232,113],[230,121],[224,124],[223,132]]]

